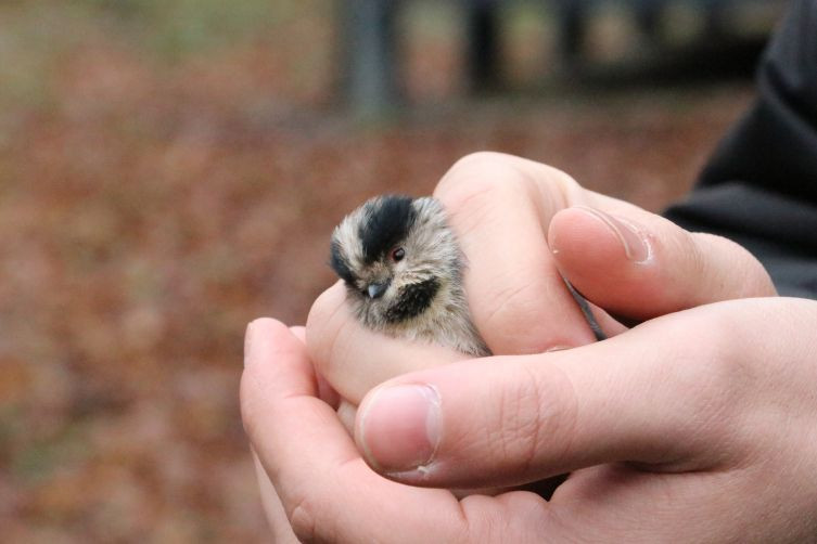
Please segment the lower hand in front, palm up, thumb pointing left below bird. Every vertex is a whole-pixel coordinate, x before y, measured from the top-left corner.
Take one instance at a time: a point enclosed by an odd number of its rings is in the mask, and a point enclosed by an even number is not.
[[[390,478],[448,488],[572,472],[549,502],[458,502],[379,477],[317,399],[303,342],[270,320],[248,329],[242,413],[305,540],[805,542],[817,533],[815,321],[813,301],[720,302],[573,350],[411,373],[363,399],[356,438]]]

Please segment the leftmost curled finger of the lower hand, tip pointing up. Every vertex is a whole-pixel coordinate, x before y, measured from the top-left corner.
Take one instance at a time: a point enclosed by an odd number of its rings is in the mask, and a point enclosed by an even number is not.
[[[366,466],[332,409],[315,398],[306,351],[284,325],[253,322],[245,349],[242,418],[298,539],[460,540],[465,528],[449,492],[400,485]]]

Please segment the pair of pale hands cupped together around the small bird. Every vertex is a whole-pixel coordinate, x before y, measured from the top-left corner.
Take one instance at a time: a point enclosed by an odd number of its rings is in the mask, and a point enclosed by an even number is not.
[[[253,322],[242,415],[276,542],[814,539],[817,302],[545,165],[472,155],[435,195],[497,357],[363,329],[340,285],[306,331]],[[612,338],[592,344],[560,272]],[[447,491],[562,472],[550,501]]]

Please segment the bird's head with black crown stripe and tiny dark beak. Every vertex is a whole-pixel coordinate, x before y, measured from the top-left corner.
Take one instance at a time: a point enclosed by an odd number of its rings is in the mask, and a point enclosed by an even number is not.
[[[444,209],[430,197],[374,197],[332,234],[330,265],[372,328],[420,318],[458,283],[459,262]]]

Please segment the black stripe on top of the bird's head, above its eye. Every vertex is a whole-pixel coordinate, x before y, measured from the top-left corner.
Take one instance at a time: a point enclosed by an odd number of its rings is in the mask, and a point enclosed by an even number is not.
[[[366,221],[358,234],[367,263],[406,239],[417,219],[412,202],[410,196],[387,195],[366,205]]]

